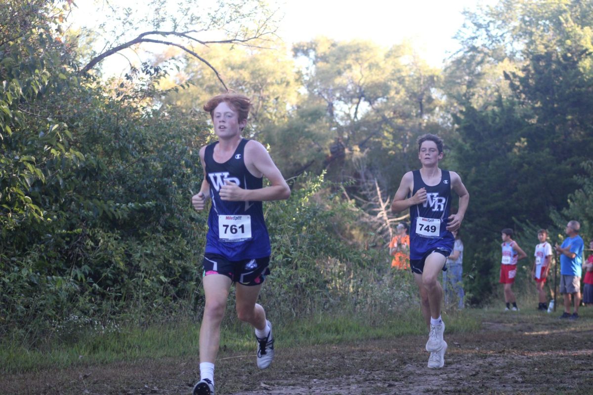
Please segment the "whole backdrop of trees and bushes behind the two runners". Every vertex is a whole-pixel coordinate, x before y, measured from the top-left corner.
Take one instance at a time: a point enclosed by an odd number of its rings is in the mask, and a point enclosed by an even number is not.
[[[233,4],[211,14],[216,26],[241,25]],[[0,336],[36,344],[76,338],[81,325],[199,318],[207,214],[189,203],[199,147],[214,137],[200,111],[221,90],[213,68],[253,98],[246,136],[269,147],[293,190],[264,205],[270,314],[347,309],[372,321],[414,303],[410,277],[388,275],[385,249],[407,213],[387,213],[385,201],[418,166],[423,133],[445,138],[442,167],[470,191],[471,303],[495,289],[503,227],[528,256],[539,227],[553,242],[568,219],[585,238],[593,231],[590,2],[468,12],[444,70],[403,44],[317,38],[292,53],[272,41],[213,45],[200,52],[209,66],[162,54],[108,80],[81,71],[96,53],[62,31],[70,5],[0,8]]]

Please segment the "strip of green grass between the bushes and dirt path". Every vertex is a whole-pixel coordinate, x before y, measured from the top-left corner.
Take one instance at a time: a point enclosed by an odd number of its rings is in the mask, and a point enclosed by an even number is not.
[[[317,313],[286,322],[271,318],[275,323],[276,341],[282,348],[389,339],[426,332],[417,306],[410,306],[400,313],[373,317],[365,315],[340,311],[336,314]],[[470,310],[447,314],[445,320],[447,332],[450,333],[471,332],[480,327],[479,319]],[[79,333],[75,341],[55,339],[36,349],[15,342],[4,342],[0,344],[0,371],[15,373],[138,359],[186,357],[198,354],[198,339],[199,323],[186,319],[146,328],[130,326],[109,333],[88,330]],[[234,317],[225,319],[221,350],[225,349],[253,351],[251,327]]]

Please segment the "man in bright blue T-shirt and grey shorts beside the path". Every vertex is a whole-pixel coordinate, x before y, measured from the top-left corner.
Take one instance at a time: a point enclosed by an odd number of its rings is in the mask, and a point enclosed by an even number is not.
[[[581,224],[569,221],[566,224],[566,239],[562,246],[556,244],[556,252],[560,255],[560,293],[564,295],[564,313],[560,319],[576,320],[579,317],[579,304],[581,304],[581,275],[583,262],[583,249],[585,243],[579,230]],[[570,314],[570,295],[574,302],[575,311]]]

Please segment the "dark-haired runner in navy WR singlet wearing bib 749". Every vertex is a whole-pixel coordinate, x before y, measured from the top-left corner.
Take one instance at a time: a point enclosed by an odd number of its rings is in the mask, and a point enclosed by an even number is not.
[[[460,176],[439,169],[443,158],[443,143],[434,134],[418,139],[420,170],[407,172],[391,203],[391,210],[410,209],[410,267],[420,290],[422,315],[429,326],[426,351],[431,353],[429,368],[445,364],[447,342],[443,339],[445,323],[441,319],[443,292],[438,275],[446,270],[445,262],[452,251],[452,230],[461,226],[470,195]],[[451,190],[459,196],[457,214],[449,215]]]

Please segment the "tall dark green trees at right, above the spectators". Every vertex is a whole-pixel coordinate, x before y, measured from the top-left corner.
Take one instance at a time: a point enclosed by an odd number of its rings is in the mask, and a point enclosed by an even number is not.
[[[576,1],[501,1],[468,15],[448,78],[460,107],[452,156],[471,194],[465,257],[477,268],[476,302],[495,279],[499,251],[488,248],[501,229],[591,221],[572,210],[554,223],[550,211],[566,208],[591,176],[581,163],[593,148],[592,18],[591,2]],[[530,259],[535,243],[524,246]]]

